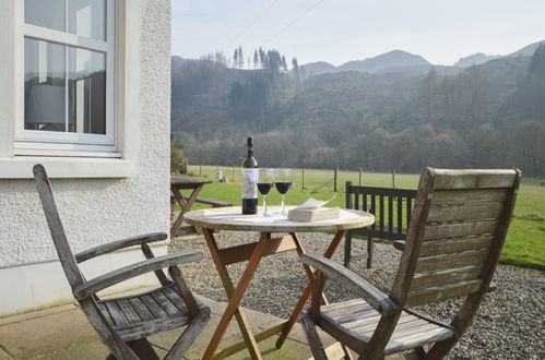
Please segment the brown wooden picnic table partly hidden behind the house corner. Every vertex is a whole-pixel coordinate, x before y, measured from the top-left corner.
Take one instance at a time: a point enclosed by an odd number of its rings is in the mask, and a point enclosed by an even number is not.
[[[181,206],[180,214],[170,227],[171,237],[186,235],[182,229],[183,216],[187,212],[189,212],[189,209],[196,202],[197,196],[199,196],[199,193],[202,190],[202,187],[204,187],[205,183],[210,182],[212,181],[204,179],[170,177],[170,191],[174,195],[175,201],[177,201]],[[181,190],[191,190],[191,194],[183,199],[185,196],[181,194]]]

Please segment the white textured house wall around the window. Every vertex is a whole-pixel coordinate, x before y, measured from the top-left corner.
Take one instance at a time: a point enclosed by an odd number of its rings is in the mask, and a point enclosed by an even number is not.
[[[118,0],[121,159],[14,156],[23,80],[21,0],[0,9],[0,315],[72,298],[32,177],[45,165],[74,253],[169,229],[170,1]],[[152,249],[166,253],[166,242]],[[140,261],[139,249],[83,263],[85,277]],[[152,274],[153,275],[153,274]],[[144,276],[110,291],[156,284]]]

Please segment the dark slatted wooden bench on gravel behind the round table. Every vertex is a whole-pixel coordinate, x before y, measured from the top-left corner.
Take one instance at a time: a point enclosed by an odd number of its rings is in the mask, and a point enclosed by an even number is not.
[[[352,237],[367,237],[367,267],[372,266],[372,238],[402,240],[406,238],[406,228],[411,221],[416,190],[357,187],[346,181],[346,208],[360,209],[375,215],[375,224],[360,229],[346,231],[344,243],[344,266],[349,267],[352,256]],[[402,249],[402,242],[395,248]]]

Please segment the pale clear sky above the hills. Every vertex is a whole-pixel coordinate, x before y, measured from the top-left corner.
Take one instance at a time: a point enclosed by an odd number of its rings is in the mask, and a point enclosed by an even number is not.
[[[245,57],[260,46],[288,62],[334,65],[394,49],[451,65],[545,39],[545,0],[171,0],[171,52]]]

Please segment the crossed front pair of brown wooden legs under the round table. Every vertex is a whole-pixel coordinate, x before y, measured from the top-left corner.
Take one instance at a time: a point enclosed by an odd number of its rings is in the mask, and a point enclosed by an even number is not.
[[[256,274],[256,269],[258,268],[261,257],[263,257],[263,254],[266,250],[268,241],[270,241],[271,239],[271,235],[269,232],[261,233],[261,237],[258,243],[256,244],[256,248],[253,249],[253,252],[248,261],[248,264],[242,273],[242,276],[239,279],[237,287],[234,288],[233,283],[230,281],[230,278],[228,276],[227,268],[220,259],[217,243],[215,242],[212,232],[209,229],[203,229],[203,233],[209,244],[209,249],[214,260],[214,263],[216,264],[217,272],[220,274],[222,283],[224,284],[227,297],[229,298],[229,303],[227,304],[227,308],[225,309],[225,312],[222,319],[220,320],[220,324],[217,325],[214,335],[210,340],[209,347],[206,348],[206,351],[203,355],[203,359],[211,359],[214,356],[214,352],[220,346],[222,337],[225,334],[225,331],[227,329],[227,326],[234,315],[237,317],[238,325],[240,327],[242,336],[245,337],[245,340],[248,346],[248,351],[250,351],[251,358],[261,359],[261,353],[257,346],[256,339],[253,338],[253,335],[248,326],[248,322],[246,321],[246,317],[244,316],[244,313],[241,311],[240,300],[242,299],[242,296],[248,285],[250,284],[250,280]]]

